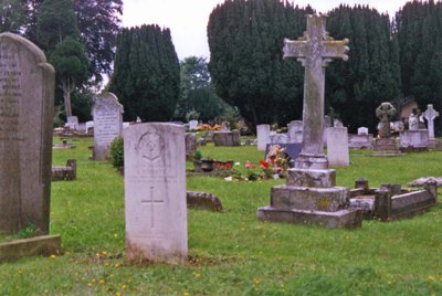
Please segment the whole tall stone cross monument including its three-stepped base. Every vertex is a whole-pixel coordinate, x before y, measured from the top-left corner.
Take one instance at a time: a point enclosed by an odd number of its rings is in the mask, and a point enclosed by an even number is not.
[[[327,169],[323,152],[324,67],[330,59],[347,60],[348,40],[335,41],[325,31],[326,15],[307,15],[307,31],[298,41],[285,40],[284,57],[305,66],[303,142],[287,183],[275,186],[270,207],[261,208],[262,221],[358,228],[361,214],[348,210],[349,190],[336,187],[336,171]]]

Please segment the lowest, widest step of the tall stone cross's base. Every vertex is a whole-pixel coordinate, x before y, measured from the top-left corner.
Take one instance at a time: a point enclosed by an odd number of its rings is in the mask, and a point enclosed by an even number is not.
[[[257,210],[257,220],[318,225],[327,229],[357,229],[362,225],[362,212],[358,210],[322,212],[264,207]]]

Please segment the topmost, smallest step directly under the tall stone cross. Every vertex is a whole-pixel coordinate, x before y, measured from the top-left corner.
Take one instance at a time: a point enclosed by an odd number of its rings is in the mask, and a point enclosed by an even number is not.
[[[287,186],[329,188],[336,186],[336,170],[290,169]]]

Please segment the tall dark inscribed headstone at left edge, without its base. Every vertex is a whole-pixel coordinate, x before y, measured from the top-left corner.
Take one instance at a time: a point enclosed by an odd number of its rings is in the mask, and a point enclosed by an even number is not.
[[[30,41],[0,34],[0,231],[49,232],[53,67]]]

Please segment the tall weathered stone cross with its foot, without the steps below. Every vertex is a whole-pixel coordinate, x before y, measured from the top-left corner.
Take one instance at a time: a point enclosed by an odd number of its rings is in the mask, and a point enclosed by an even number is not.
[[[284,40],[284,59],[297,57],[305,67],[303,144],[296,168],[325,169],[327,158],[323,152],[325,67],[333,59],[348,60],[348,39],[328,36],[327,17],[307,15],[307,31],[298,40]]]

